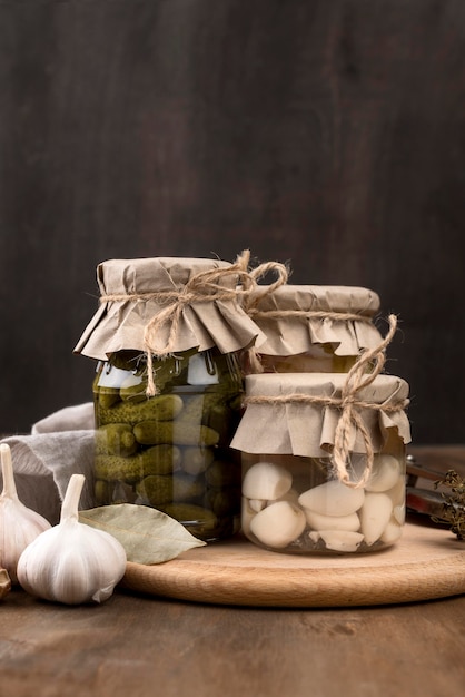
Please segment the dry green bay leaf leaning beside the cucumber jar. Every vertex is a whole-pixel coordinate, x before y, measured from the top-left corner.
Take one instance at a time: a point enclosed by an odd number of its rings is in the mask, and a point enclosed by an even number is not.
[[[136,563],[161,563],[206,544],[180,522],[148,505],[100,505],[79,511],[79,522],[112,534],[125,548],[128,561]]]

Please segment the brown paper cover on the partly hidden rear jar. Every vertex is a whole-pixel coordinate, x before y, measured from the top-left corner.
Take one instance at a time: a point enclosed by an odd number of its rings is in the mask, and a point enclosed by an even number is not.
[[[374,291],[358,286],[283,285],[253,292],[246,311],[267,336],[260,353],[297,355],[332,344],[336,355],[349,356],[379,343],[373,323],[379,305]]]

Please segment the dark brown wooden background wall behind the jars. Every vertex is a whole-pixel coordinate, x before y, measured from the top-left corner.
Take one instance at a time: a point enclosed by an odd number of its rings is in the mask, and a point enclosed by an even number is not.
[[[99,262],[249,247],[378,292],[463,442],[464,108],[463,0],[0,0],[0,432],[91,399]]]

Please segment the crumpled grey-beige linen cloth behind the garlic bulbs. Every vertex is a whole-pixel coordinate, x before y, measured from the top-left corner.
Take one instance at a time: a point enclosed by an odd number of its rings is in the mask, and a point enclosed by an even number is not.
[[[20,501],[51,524],[60,519],[61,501],[75,472],[86,477],[79,508],[95,505],[93,404],[67,406],[33,424],[28,435],[1,440],[11,449]]]

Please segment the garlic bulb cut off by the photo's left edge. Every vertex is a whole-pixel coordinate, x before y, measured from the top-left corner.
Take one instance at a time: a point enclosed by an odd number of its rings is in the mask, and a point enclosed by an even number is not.
[[[17,565],[21,552],[51,526],[48,520],[18,498],[14,482],[11,450],[0,444],[3,491],[0,495],[0,567],[7,569],[13,583],[17,582]]]

